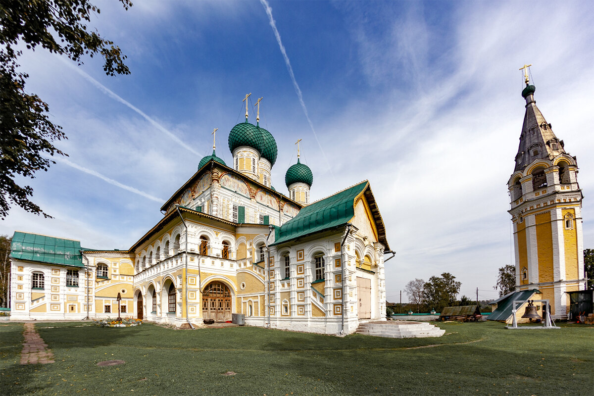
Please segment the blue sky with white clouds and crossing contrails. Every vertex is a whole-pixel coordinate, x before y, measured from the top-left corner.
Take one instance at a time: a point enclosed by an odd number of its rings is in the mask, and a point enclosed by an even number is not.
[[[260,123],[279,148],[277,191],[287,194],[298,139],[312,200],[371,183],[396,252],[388,301],[444,272],[462,283],[459,297],[478,288],[494,299],[498,268],[514,262],[507,180],[525,112],[519,68],[532,64],[537,106],[577,157],[584,247],[594,248],[592,2],[97,5],[90,27],[122,49],[131,74],[24,50],[27,91],[64,128],[55,145],[68,157],[20,180],[53,218],[13,206],[0,234],[128,249],[211,153],[214,128],[217,155],[232,163],[228,134],[252,93],[249,119],[263,97]]]

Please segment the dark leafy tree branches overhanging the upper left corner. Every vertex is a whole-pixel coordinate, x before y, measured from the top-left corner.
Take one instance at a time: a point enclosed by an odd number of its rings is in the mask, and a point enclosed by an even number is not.
[[[120,0],[125,9],[130,0]],[[99,14],[88,0],[2,1],[0,4],[0,219],[8,215],[11,203],[35,214],[46,214],[31,202],[33,189],[21,186],[17,177],[33,179],[55,161],[46,156],[66,155],[52,142],[66,139],[59,125],[49,120],[49,106],[37,95],[27,93],[27,75],[19,70],[18,58],[26,47],[40,46],[83,64],[82,57],[99,54],[108,75],[129,74],[126,58],[118,46],[89,31],[86,23]]]

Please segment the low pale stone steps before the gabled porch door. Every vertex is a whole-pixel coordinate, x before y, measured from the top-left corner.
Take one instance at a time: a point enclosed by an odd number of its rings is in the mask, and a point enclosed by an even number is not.
[[[355,332],[375,337],[415,338],[441,337],[445,330],[427,322],[385,321],[362,323]]]

